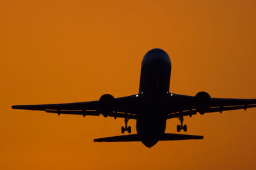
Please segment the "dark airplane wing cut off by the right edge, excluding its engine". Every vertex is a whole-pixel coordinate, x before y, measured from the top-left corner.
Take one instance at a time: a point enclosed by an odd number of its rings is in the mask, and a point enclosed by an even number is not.
[[[168,118],[179,116],[192,116],[196,110],[196,98],[186,95],[170,95],[170,106],[168,107]],[[237,109],[248,109],[256,107],[256,99],[235,99],[235,98],[211,98],[209,108],[205,112],[223,112]]]

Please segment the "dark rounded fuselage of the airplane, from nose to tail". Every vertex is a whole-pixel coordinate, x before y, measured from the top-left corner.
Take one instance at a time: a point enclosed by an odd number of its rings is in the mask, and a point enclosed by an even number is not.
[[[170,57],[161,49],[148,51],[141,63],[141,109],[136,130],[141,142],[149,148],[159,141],[165,131],[164,101],[169,95],[171,69]]]

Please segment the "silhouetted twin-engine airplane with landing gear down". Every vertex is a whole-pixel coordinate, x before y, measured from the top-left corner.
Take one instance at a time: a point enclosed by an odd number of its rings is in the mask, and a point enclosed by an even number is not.
[[[209,112],[223,112],[256,107],[256,99],[211,98],[205,91],[195,96],[178,95],[170,92],[172,64],[168,54],[162,49],[149,50],[141,62],[139,93],[127,97],[114,98],[102,95],[92,102],[68,104],[12,105],[12,109],[26,109],[60,114],[124,118],[125,126],[118,135],[94,139],[94,142],[140,141],[148,148],[158,141],[204,139],[202,135],[167,134],[166,120],[178,118],[177,132],[187,131],[183,125],[184,116]],[[136,120],[137,134],[131,134],[129,120]]]

